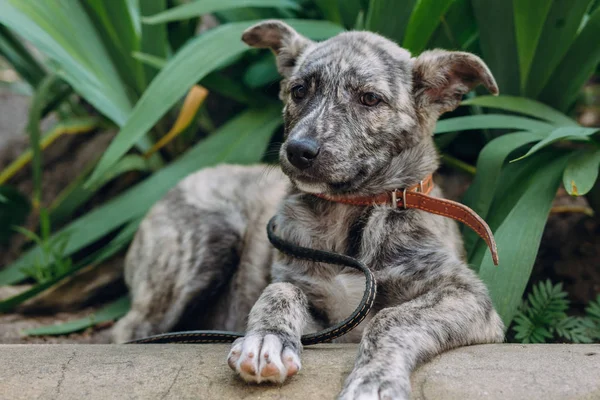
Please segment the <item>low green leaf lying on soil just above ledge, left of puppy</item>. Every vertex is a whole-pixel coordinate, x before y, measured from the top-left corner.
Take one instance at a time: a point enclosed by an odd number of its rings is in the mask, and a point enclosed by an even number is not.
[[[42,326],[40,328],[29,329],[24,333],[28,336],[43,336],[43,335],[66,335],[68,333],[79,332],[87,329],[91,326],[101,324],[103,322],[114,321],[129,311],[131,302],[129,297],[121,297],[97,313],[92,313],[86,318],[77,319],[75,321],[65,322],[63,324],[56,324],[50,326]]]

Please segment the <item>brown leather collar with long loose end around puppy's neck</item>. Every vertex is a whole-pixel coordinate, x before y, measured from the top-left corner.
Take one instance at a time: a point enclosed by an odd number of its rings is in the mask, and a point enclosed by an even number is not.
[[[498,265],[496,241],[494,240],[492,230],[486,222],[475,211],[463,204],[429,196],[433,187],[433,176],[429,175],[418,184],[409,188],[381,193],[376,196],[333,196],[326,194],[315,194],[315,196],[336,203],[354,206],[389,205],[393,208],[416,208],[432,214],[452,218],[467,225],[485,240],[492,253],[494,265]]]

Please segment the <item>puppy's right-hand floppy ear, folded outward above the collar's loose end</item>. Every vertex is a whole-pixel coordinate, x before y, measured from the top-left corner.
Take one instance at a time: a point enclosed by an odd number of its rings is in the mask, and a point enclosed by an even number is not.
[[[474,54],[430,50],[413,59],[413,93],[422,112],[441,114],[452,111],[463,95],[482,84],[498,94],[496,80],[489,68]]]

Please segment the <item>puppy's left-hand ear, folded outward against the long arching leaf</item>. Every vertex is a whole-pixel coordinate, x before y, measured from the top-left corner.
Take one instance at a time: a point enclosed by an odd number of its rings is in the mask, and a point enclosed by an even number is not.
[[[300,54],[313,43],[288,24],[277,20],[251,26],[242,34],[242,40],[252,47],[273,50],[277,56],[277,69],[285,78],[292,74]]]

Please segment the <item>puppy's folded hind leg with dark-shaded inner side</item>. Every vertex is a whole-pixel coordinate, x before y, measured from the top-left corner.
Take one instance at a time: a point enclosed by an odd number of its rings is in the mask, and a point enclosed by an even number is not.
[[[171,215],[189,214],[190,223],[198,221],[195,231],[162,212],[142,224],[126,260],[131,310],[113,328],[115,342],[169,332],[192,310],[189,319],[197,320],[238,269],[244,227],[224,214],[191,210]]]

